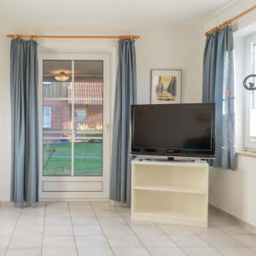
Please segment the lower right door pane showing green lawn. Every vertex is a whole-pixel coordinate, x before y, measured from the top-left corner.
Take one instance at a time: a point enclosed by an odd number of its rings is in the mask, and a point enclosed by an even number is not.
[[[102,176],[102,137],[74,143],[74,175]]]

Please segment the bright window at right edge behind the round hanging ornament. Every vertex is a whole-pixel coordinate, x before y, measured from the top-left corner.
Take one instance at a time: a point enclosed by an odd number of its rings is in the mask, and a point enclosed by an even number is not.
[[[256,74],[256,36],[247,39],[247,75]],[[249,83],[256,83],[253,78]],[[256,148],[256,91],[246,91],[246,148]]]

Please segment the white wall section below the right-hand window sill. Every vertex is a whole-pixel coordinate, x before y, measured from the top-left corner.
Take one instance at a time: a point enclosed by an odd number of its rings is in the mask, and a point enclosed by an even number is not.
[[[210,203],[256,226],[256,159],[239,156],[236,171],[211,170]]]

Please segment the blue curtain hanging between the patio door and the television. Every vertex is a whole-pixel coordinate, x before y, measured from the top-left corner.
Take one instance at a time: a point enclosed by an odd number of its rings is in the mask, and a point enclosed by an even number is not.
[[[119,66],[113,110],[110,199],[131,203],[130,107],[137,102],[134,40],[119,40]]]

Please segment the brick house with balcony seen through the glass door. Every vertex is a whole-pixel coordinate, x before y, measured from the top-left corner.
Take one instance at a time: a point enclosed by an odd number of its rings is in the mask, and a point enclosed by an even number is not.
[[[75,82],[74,130],[102,130],[102,82]],[[71,83],[44,85],[44,131],[70,131],[72,128]]]

